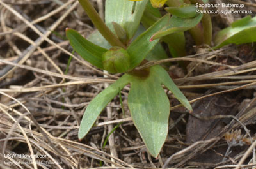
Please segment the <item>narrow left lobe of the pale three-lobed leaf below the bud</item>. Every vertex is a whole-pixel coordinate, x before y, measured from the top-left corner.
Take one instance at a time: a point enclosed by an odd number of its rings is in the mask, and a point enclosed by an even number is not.
[[[86,108],[83,119],[80,124],[78,131],[78,138],[82,139],[88,133],[90,128],[97,120],[100,112],[108,105],[109,101],[113,99],[120,89],[123,89],[125,85],[129,84],[129,75],[123,75],[121,78],[116,80],[115,83],[109,85],[104,91],[100,92],[93,100],[90,102]]]

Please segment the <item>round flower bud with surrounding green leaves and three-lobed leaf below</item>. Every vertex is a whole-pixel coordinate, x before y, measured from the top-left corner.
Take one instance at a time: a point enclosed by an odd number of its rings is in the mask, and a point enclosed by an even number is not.
[[[189,111],[192,110],[188,99],[180,92],[163,67],[156,65],[146,70],[134,70],[157,43],[157,41],[150,42],[152,33],[163,26],[167,20],[168,16],[156,22],[132,41],[127,50],[122,47],[111,47],[107,50],[86,40],[73,29],[66,30],[70,44],[86,61],[109,73],[126,72],[90,102],[81,121],[79,139],[88,133],[100,112],[127,84],[131,85],[128,107],[132,120],[148,151],[154,157],[159,154],[168,133],[170,103],[162,84],[172,91]],[[148,42],[145,43],[145,41]]]

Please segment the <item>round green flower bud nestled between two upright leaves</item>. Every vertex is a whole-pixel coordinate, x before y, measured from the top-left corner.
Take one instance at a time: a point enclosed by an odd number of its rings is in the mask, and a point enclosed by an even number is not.
[[[102,55],[104,70],[109,73],[124,73],[130,68],[130,56],[124,48],[111,47]]]

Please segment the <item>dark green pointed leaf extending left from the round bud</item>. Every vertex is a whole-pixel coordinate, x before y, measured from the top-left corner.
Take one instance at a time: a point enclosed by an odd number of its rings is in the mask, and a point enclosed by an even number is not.
[[[74,29],[67,28],[66,36],[70,41],[70,45],[74,48],[77,54],[94,66],[103,69],[102,54],[107,51],[105,48],[99,47],[98,45],[86,40]]]

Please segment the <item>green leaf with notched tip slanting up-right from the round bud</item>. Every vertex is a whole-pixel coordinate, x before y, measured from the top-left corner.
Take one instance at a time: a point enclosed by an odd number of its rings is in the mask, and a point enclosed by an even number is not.
[[[162,17],[129,45],[127,52],[131,57],[131,69],[138,66],[158,43],[159,40],[150,41],[150,37],[159,31],[161,27],[165,26],[168,23],[169,18],[170,15]]]

